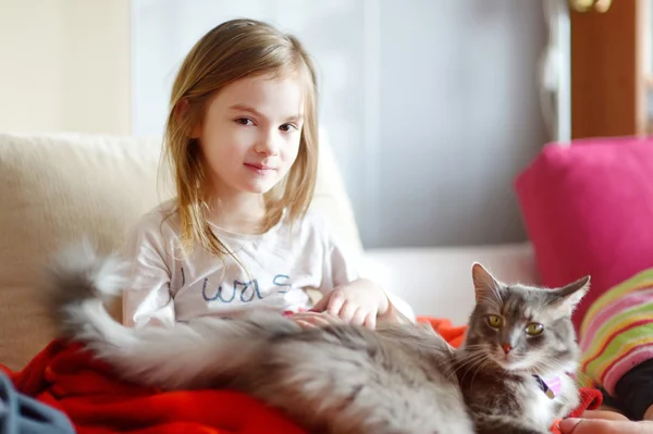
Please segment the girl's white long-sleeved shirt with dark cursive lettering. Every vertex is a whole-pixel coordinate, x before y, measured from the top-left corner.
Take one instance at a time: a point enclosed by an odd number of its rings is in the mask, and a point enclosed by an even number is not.
[[[322,294],[358,278],[316,212],[288,224],[286,214],[261,235],[239,235],[212,225],[249,275],[229,255],[224,260],[195,247],[182,251],[180,221],[169,201],[132,230],[131,270],[123,293],[123,322],[172,325],[205,315],[234,317],[249,309],[297,312],[310,309],[305,289]],[[251,278],[249,277],[251,276]]]

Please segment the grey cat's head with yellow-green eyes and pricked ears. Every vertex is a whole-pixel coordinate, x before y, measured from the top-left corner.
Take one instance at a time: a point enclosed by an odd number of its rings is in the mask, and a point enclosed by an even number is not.
[[[571,312],[589,289],[586,276],[562,288],[508,285],[472,266],[476,307],[465,349],[506,371],[575,370],[578,345]]]

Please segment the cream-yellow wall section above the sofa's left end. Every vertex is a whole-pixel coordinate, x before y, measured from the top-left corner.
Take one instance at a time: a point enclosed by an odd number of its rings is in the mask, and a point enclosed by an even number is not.
[[[128,0],[0,0],[0,129],[131,131]]]

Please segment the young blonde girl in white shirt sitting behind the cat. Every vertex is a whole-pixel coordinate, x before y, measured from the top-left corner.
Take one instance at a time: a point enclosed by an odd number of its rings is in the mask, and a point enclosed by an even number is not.
[[[174,82],[164,142],[176,197],[132,231],[125,324],[251,309],[305,326],[398,318],[382,288],[359,278],[325,221],[307,212],[317,83],[296,38],[252,20],[206,34]],[[309,289],[323,294],[316,306]]]

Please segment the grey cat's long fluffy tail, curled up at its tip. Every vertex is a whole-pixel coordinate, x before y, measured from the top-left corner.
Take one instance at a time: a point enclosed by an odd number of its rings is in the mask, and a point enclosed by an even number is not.
[[[269,314],[125,327],[103,306],[103,300],[120,294],[124,266],[116,257],[99,257],[85,243],[54,258],[45,289],[60,334],[84,343],[125,380],[169,389],[206,387],[247,370],[272,335],[298,330]]]

